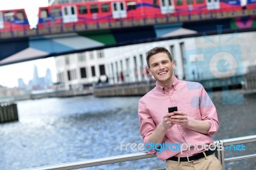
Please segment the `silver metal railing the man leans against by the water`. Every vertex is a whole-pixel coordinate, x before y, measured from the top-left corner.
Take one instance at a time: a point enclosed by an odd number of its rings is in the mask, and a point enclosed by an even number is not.
[[[216,157],[220,160],[223,169],[225,169],[225,162],[232,162],[237,160],[244,160],[249,158],[256,158],[256,153],[252,155],[243,155],[239,157],[231,157],[225,158],[224,152],[225,150],[221,150],[220,148],[225,148],[225,146],[235,145],[235,144],[245,144],[245,143],[253,143],[256,142],[256,135],[250,135],[245,137],[236,137],[232,139],[223,139],[219,141],[214,141],[216,144],[217,151]],[[131,160],[139,160],[143,158],[153,158],[156,155],[150,155],[146,151],[139,153],[130,153],[125,155],[117,155],[114,157],[104,157],[104,158],[96,158],[92,160],[84,160],[79,162],[70,162],[67,164],[59,164],[55,166],[44,166],[44,167],[36,167],[32,169],[24,169],[24,170],[68,170],[68,169],[79,169],[83,167],[92,167],[92,166],[102,166],[106,164],[115,164],[119,162],[131,161]],[[163,168],[165,169],[165,168]],[[157,169],[160,170],[160,169]]]

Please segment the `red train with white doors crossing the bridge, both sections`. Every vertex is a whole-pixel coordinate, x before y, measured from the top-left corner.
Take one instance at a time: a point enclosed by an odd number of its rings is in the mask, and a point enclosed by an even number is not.
[[[245,1],[245,3],[241,3]],[[256,0],[101,0],[39,8],[37,28],[255,9]],[[243,9],[242,9],[243,8]],[[0,31],[29,29],[24,10],[0,11]]]

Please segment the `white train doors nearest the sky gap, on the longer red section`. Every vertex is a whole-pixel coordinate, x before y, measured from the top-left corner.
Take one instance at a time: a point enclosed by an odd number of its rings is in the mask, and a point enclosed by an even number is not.
[[[76,6],[63,6],[61,11],[63,23],[77,22]]]

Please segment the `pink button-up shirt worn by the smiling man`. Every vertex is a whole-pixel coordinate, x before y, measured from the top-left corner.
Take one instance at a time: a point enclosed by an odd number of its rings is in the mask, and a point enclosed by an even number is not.
[[[148,135],[152,134],[156,127],[163,120],[163,114],[168,112],[168,107],[177,106],[178,111],[185,112],[189,118],[205,120],[209,123],[210,129],[207,135],[200,134],[180,125],[173,125],[164,135],[162,143],[187,143],[187,144],[211,144],[212,134],[216,134],[219,128],[217,112],[211,98],[207,95],[204,87],[198,82],[180,81],[175,77],[172,86],[164,88],[156,83],[156,87],[140,99],[138,113],[140,118],[140,133],[143,143],[149,143]],[[187,157],[202,152],[191,146],[190,150],[180,151],[163,150],[157,153],[156,150],[147,151],[150,154],[156,153],[161,160],[173,156]]]

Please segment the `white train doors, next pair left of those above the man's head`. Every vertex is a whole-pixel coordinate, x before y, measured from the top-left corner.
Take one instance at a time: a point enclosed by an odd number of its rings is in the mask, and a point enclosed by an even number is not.
[[[127,17],[125,3],[124,2],[113,2],[112,3],[112,15],[113,19],[122,19]]]

